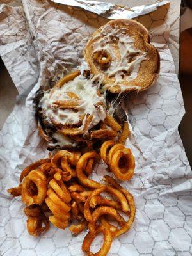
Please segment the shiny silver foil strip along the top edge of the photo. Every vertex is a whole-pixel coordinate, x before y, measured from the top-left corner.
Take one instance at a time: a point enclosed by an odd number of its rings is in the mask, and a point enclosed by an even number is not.
[[[170,1],[157,2],[150,5],[141,5],[129,8],[119,4],[111,4],[99,1],[86,1],[86,0],[51,0],[54,3],[64,4],[67,6],[74,6],[83,8],[92,13],[96,13],[107,19],[132,19],[140,15],[157,10],[159,6],[170,3]]]

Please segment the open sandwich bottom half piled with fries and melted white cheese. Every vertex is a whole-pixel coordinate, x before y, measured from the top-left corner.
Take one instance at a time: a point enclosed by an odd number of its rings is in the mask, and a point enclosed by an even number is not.
[[[36,94],[40,134],[48,149],[93,147],[108,138],[120,139],[124,125],[109,115],[100,79],[79,71],[63,77],[53,88]],[[120,139],[121,140],[121,139]]]

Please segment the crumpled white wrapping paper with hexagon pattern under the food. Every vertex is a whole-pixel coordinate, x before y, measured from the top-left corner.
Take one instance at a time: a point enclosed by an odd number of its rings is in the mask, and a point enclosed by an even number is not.
[[[36,90],[52,76],[81,65],[89,36],[108,20],[48,0],[22,4],[0,6],[0,54],[19,91],[0,133],[1,255],[83,255],[86,232],[72,237],[68,228],[51,227],[40,237],[29,236],[21,200],[6,189],[17,186],[24,167],[47,156],[34,117]],[[134,195],[137,211],[131,230],[113,241],[109,255],[191,255],[192,175],[178,132],[184,104],[168,48],[170,20],[179,19],[175,13],[165,5],[136,19],[150,31],[161,72],[152,88],[125,100],[132,127],[127,147],[136,158],[136,172],[122,186]],[[93,179],[102,179],[105,169],[99,164]],[[101,241],[95,239],[93,252]]]

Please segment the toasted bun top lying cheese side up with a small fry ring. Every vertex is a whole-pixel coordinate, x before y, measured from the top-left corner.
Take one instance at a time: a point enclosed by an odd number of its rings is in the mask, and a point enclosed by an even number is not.
[[[113,93],[146,90],[159,75],[159,54],[147,29],[134,20],[112,20],[93,33],[84,58],[93,74],[104,75]]]

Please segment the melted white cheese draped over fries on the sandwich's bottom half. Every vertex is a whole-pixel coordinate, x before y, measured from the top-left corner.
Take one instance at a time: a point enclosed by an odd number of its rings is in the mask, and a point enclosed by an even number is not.
[[[89,129],[97,125],[100,120],[104,120],[106,118],[106,101],[102,95],[97,95],[97,86],[93,86],[93,81],[98,78],[99,76],[86,79],[84,76],[79,75],[74,80],[65,83],[61,88],[46,92],[40,100],[40,106],[47,118],[50,120],[54,118],[54,122],[58,122],[61,125],[71,125],[77,124],[81,116],[89,114],[93,116]],[[54,102],[58,100],[74,100],[67,95],[67,92],[76,93],[79,97],[81,104],[78,106],[77,111],[69,108],[54,108]]]

